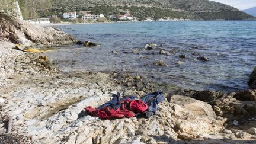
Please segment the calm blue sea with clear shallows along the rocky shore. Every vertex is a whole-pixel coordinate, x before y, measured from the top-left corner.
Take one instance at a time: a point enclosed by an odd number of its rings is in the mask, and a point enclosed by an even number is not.
[[[78,40],[99,46],[62,46],[47,53],[62,72],[116,71],[143,75],[180,89],[249,89],[256,66],[256,21],[165,21],[56,26]],[[155,43],[157,49],[147,50]],[[198,49],[195,49],[197,47]],[[131,53],[138,49],[136,53]],[[171,55],[161,55],[160,50]],[[113,53],[113,51],[118,52]],[[209,58],[208,62],[192,53]],[[180,55],[186,55],[181,59]],[[152,63],[162,60],[168,66]]]

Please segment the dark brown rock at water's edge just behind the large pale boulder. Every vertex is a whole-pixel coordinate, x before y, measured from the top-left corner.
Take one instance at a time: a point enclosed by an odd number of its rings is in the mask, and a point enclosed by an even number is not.
[[[216,95],[218,94],[215,91],[201,91],[197,93],[196,99],[204,102],[211,102],[217,98]]]

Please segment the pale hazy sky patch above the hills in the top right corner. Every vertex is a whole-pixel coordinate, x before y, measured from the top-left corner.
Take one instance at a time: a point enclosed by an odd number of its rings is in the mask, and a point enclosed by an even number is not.
[[[235,8],[238,8],[239,10],[244,10],[244,9],[252,8],[256,6],[256,0],[210,0],[210,1],[231,5]]]

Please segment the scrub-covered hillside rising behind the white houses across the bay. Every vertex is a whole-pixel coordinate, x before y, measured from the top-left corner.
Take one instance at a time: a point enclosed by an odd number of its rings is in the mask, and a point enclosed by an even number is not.
[[[52,1],[50,14],[62,16],[63,12],[87,10],[104,15],[127,12],[137,20],[151,18],[183,18],[183,19],[225,19],[241,20],[254,18],[229,5],[207,0],[56,0]],[[46,16],[46,9],[39,11]]]

